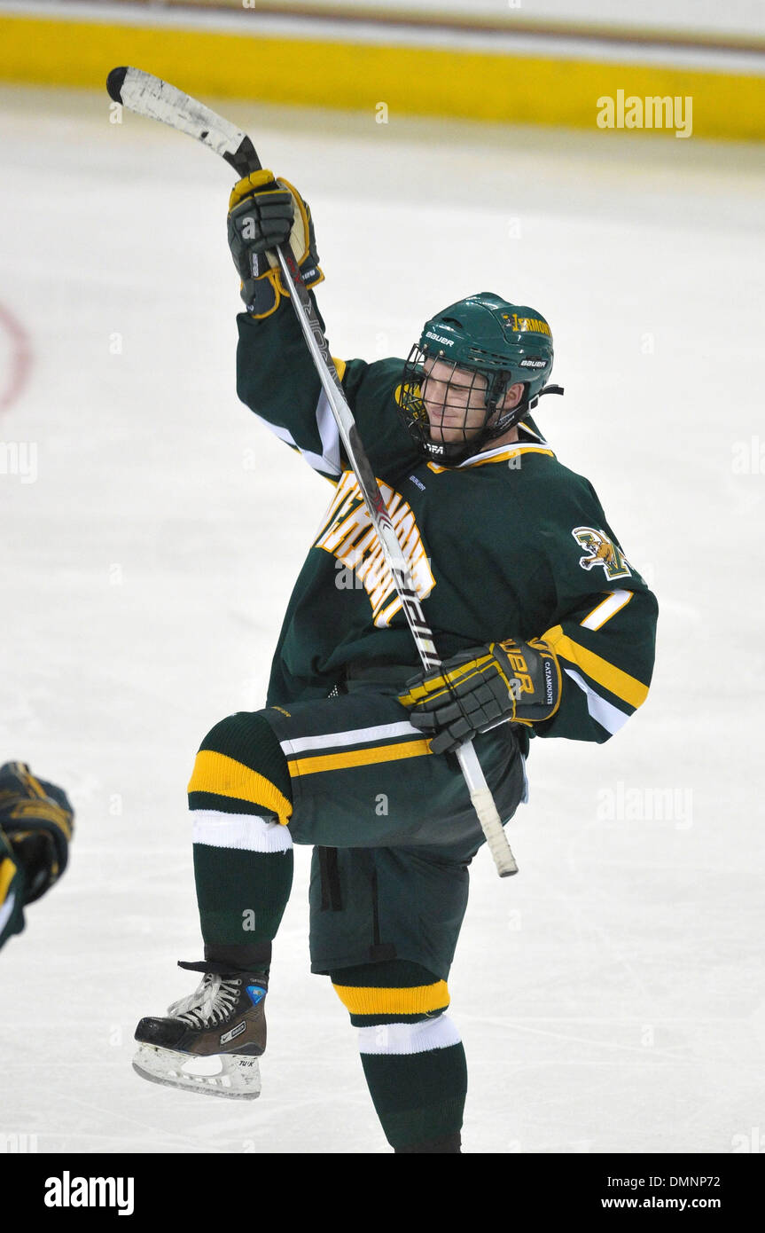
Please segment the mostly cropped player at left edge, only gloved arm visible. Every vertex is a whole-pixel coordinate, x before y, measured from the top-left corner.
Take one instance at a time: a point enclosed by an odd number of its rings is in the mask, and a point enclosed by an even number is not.
[[[67,793],[25,762],[0,767],[0,947],[25,927],[23,909],[58,882],[74,810]]]

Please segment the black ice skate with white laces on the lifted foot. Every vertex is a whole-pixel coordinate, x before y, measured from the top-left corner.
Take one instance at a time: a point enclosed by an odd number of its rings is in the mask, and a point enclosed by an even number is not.
[[[133,1069],[150,1083],[207,1096],[260,1096],[266,989],[261,974],[204,973],[196,993],[174,1002],[166,1018],[140,1020]]]

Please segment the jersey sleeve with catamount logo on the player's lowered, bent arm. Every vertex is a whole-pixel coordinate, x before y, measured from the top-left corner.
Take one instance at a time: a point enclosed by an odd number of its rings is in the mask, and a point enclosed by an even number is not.
[[[551,536],[557,610],[541,636],[558,656],[562,698],[535,735],[602,743],[648,695],[658,603],[581,483],[590,499]]]

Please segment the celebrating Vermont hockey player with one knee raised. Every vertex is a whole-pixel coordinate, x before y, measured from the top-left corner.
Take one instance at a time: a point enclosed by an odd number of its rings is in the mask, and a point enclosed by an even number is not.
[[[530,412],[541,313],[495,295],[437,313],[407,363],[335,361],[443,662],[423,673],[272,249],[322,281],[308,207],[259,171],[228,216],[246,312],[238,391],[334,486],[297,580],[267,705],[217,724],[188,785],[204,958],[138,1025],[156,1083],[255,1096],[292,845],[313,845],[312,970],[329,974],[397,1153],[458,1153],[467,1070],[447,978],[483,842],[453,751],[474,741],[500,816],[531,739],[606,741],[646,698],[657,604],[589,483]],[[213,1073],[217,1071],[217,1073]]]

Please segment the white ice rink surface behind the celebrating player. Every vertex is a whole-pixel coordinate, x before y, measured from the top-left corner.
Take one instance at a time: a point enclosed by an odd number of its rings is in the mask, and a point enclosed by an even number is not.
[[[201,954],[195,750],[261,705],[330,490],[237,399],[228,169],[110,123],[106,95],[0,104],[0,399],[9,313],[32,353],[0,441],[37,448],[34,482],[0,473],[0,761],[78,809],[70,869],[0,956],[0,1133],[388,1150],[355,1032],[308,972],[307,850],[261,1099],[131,1070],[136,1021],[191,991],[174,964]],[[604,747],[535,742],[521,873],[474,863],[450,983],[466,1150],[731,1152],[765,1124],[763,149],[224,107],[310,201],[334,354],[405,354],[478,290],[546,313],[567,393],[540,422],[659,596],[643,710]],[[620,783],[673,789],[675,816],[604,820]]]

